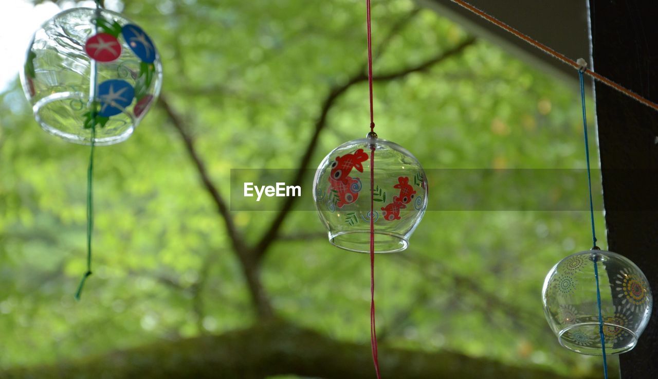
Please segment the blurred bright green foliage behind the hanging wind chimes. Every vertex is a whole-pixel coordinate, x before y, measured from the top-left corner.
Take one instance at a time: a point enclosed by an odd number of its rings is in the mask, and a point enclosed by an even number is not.
[[[374,1],[375,45],[415,7]],[[139,0],[123,12],[157,41],[163,94],[184,114],[226,197],[230,168],[297,168],[328,89],[365,62],[361,1]],[[420,63],[465,38],[457,24],[422,10],[374,70]],[[407,147],[426,168],[585,165],[575,88],[486,41],[426,72],[377,84],[375,97],[380,137]],[[367,125],[367,84],[360,84],[331,110],[313,165]],[[0,368],[255,322],[224,224],[158,107],[128,141],[97,149],[94,275],[82,301],[74,300],[85,270],[88,154],[41,132],[18,84],[0,95]],[[563,193],[583,201],[585,194],[584,178]],[[250,241],[273,215],[234,212]],[[601,215],[597,224],[602,231]],[[368,257],[332,247],[322,232],[314,213],[291,213],[284,235],[318,237],[275,243],[265,288],[291,322],[367,343]],[[599,361],[558,345],[540,297],[549,268],[588,247],[584,212],[430,211],[409,251],[378,257],[382,343],[588,373]],[[207,278],[202,290],[200,278]]]

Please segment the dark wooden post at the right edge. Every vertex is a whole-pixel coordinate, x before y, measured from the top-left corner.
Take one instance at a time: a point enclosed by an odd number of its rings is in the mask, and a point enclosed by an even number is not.
[[[594,70],[658,102],[658,4],[650,0],[588,1]],[[595,85],[595,99],[609,248],[644,271],[655,298],[658,112],[601,84]],[[638,345],[620,356],[622,379],[658,378],[656,300]]]

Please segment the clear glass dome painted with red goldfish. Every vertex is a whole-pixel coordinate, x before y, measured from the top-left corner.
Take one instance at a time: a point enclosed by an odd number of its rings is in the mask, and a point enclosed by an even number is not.
[[[315,206],[332,244],[370,252],[371,147],[374,249],[376,253],[402,251],[425,213],[428,186],[418,160],[400,145],[364,138],[336,147],[316,170]]]

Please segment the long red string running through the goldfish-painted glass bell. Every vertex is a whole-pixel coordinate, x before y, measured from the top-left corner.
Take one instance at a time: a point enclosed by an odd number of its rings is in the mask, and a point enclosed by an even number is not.
[[[370,133],[374,135],[374,111],[372,105],[372,36],[370,30],[370,0],[366,0],[366,19],[368,25],[368,86],[370,89]],[[376,135],[374,135],[376,136]],[[370,347],[372,349],[372,362],[377,379],[382,379],[379,373],[379,359],[377,351],[377,328],[375,323],[374,307],[374,143],[370,145]]]

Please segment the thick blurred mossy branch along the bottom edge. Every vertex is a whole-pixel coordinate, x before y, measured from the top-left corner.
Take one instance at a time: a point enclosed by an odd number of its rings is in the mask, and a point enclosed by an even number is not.
[[[459,353],[386,346],[380,347],[380,366],[390,378],[397,379],[567,379],[549,370],[505,365]],[[283,322],[262,322],[221,336],[159,342],[52,366],[13,368],[0,371],[0,379],[261,379],[280,374],[369,379],[372,378],[370,347],[332,340]]]

